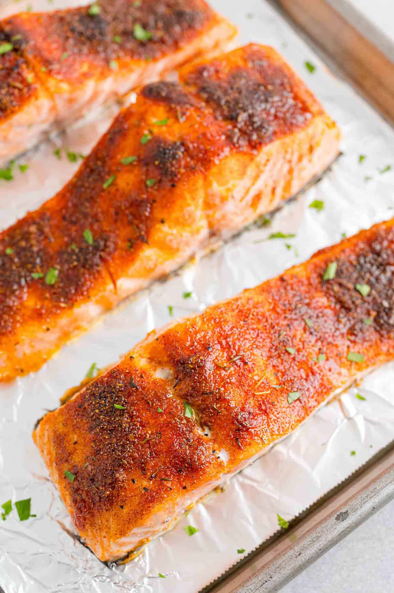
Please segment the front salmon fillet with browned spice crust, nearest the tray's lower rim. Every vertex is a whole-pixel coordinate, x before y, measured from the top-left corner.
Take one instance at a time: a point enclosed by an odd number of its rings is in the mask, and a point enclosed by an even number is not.
[[[153,331],[38,423],[83,541],[117,560],[394,358],[394,219]],[[69,473],[70,472],[70,473]]]

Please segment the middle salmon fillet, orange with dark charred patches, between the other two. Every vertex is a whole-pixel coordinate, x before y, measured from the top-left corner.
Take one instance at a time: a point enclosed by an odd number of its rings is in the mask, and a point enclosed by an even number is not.
[[[340,132],[270,47],[144,87],[75,177],[0,234],[0,379],[321,173]]]

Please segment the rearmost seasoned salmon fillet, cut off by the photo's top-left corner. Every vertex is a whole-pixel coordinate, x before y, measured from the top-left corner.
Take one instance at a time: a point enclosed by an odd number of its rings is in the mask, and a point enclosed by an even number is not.
[[[0,22],[0,163],[237,33],[204,0],[106,0]]]

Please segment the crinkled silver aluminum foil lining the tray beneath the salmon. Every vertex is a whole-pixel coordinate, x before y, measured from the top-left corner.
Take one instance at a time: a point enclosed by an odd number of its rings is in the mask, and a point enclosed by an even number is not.
[[[0,585],[5,593],[195,593],[277,529],[277,513],[291,519],[394,439],[394,364],[387,364],[322,407],[295,433],[231,480],[224,492],[196,506],[170,533],[153,541],[127,566],[107,568],[73,538],[75,530],[31,439],[35,420],[85,376],[131,349],[154,327],[168,323],[276,276],[314,251],[390,218],[394,207],[394,132],[347,84],[334,78],[270,5],[261,0],[211,0],[240,27],[240,43],[272,44],[301,74],[343,129],[343,155],[331,171],[286,205],[269,228],[244,232],[220,250],[156,283],[70,343],[39,372],[0,385],[0,504],[31,498],[37,517],[20,522],[14,511],[0,521]],[[27,2],[0,8],[0,17]],[[34,9],[78,2],[31,1]],[[305,67],[308,61],[314,72]],[[117,111],[69,129],[22,157],[14,180],[0,180],[0,225],[36,208],[77,168],[65,150],[86,154]],[[61,146],[62,159],[54,148]],[[359,162],[359,155],[366,156]],[[385,171],[385,172],[383,172]],[[324,200],[324,210],[309,208]],[[270,232],[294,232],[267,241]],[[185,300],[183,292],[192,292]],[[356,394],[361,394],[361,400]],[[353,452],[353,454],[352,454]],[[183,527],[198,533],[188,537]],[[165,576],[162,578],[159,573]]]

